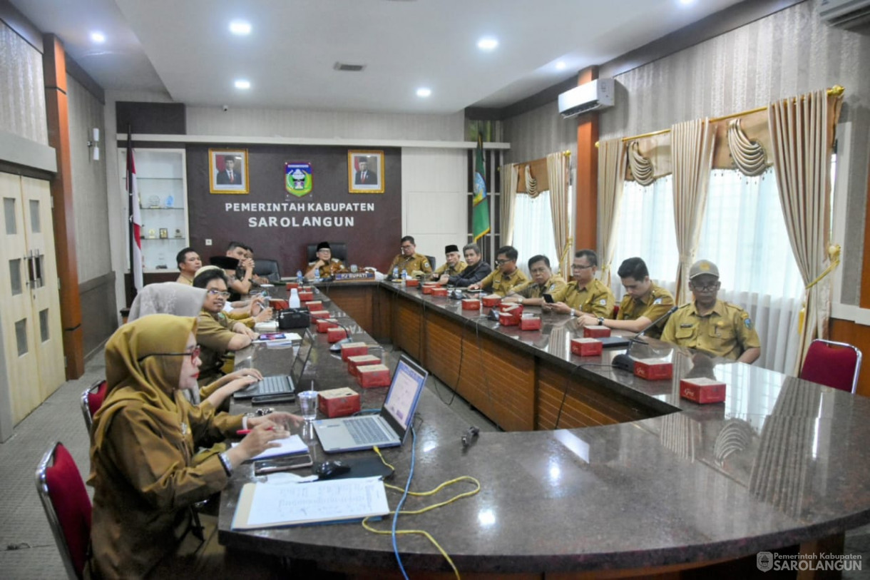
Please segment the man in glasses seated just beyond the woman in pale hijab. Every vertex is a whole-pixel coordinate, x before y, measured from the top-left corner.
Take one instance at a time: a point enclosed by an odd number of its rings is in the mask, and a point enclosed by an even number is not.
[[[207,385],[223,374],[221,368],[226,353],[247,347],[258,334],[243,322],[230,320],[224,314],[224,304],[230,293],[226,289],[223,270],[216,266],[202,268],[193,279],[193,286],[205,289],[203,310],[197,323],[197,343],[202,347],[199,358],[203,361],[199,368],[199,384]]]

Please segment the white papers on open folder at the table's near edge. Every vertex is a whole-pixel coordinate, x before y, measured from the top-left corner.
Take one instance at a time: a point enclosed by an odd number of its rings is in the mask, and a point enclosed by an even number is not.
[[[289,485],[245,483],[232,529],[356,521],[389,513],[386,489],[379,477]]]

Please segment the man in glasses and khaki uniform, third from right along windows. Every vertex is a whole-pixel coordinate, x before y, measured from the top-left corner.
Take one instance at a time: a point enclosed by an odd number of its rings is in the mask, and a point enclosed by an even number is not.
[[[552,293],[555,304],[545,303],[542,308],[545,311],[572,316],[592,314],[598,319],[598,324],[611,318],[616,300],[610,288],[595,279],[597,268],[598,254],[592,250],[579,250],[574,254],[574,263],[571,265],[573,280],[566,287]]]

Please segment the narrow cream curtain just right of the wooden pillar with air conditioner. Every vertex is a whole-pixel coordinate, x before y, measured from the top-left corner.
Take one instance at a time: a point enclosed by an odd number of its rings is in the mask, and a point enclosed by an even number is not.
[[[626,164],[626,145],[621,138],[599,143],[598,246],[601,281],[607,286],[610,286],[611,263],[616,251]]]

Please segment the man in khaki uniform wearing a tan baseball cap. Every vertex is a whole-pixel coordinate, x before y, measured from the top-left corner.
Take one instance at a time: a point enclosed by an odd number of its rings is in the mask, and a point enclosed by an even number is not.
[[[689,269],[694,301],[667,320],[661,340],[680,347],[752,363],[761,355],[759,334],[743,308],[719,300],[719,268],[698,260]]]

